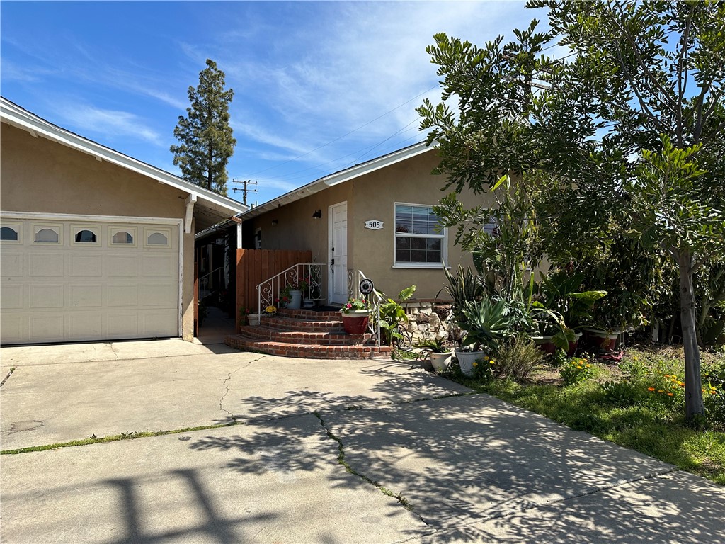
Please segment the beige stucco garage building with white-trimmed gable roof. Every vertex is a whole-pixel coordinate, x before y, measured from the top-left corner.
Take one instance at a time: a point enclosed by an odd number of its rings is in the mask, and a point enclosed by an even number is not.
[[[0,342],[193,339],[194,234],[247,206],[0,101]]]

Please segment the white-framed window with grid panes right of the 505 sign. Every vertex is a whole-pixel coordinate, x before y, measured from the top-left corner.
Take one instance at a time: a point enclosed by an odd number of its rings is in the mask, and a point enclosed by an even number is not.
[[[446,231],[432,206],[395,204],[395,265],[440,266],[446,260]]]

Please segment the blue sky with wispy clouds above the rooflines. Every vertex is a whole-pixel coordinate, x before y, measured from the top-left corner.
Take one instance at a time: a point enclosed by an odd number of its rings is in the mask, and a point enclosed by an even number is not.
[[[228,173],[258,181],[260,204],[421,141],[435,33],[482,45],[545,20],[523,1],[2,1],[0,16],[3,96],[176,174],[173,129],[215,60],[235,92]]]

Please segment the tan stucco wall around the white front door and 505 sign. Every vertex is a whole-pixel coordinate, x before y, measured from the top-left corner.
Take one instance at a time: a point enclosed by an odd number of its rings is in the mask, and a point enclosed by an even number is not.
[[[389,297],[397,297],[404,287],[415,284],[417,300],[433,300],[444,286],[445,277],[440,266],[433,268],[397,268],[394,266],[394,213],[395,202],[417,205],[436,205],[446,194],[441,191],[445,179],[431,175],[437,165],[435,150],[398,162],[365,176],[312,194],[297,202],[278,207],[249,220],[245,225],[244,247],[252,248],[254,228],[262,229],[264,250],[312,250],[316,262],[329,262],[328,207],[347,202],[347,268],[361,270],[373,279],[376,289]],[[489,202],[485,195],[466,192],[460,196],[465,205]],[[322,210],[321,219],[312,213]],[[365,221],[383,221],[384,228],[373,231],[365,228]],[[276,221],[276,225],[273,225]],[[455,268],[458,263],[472,266],[471,256],[453,244],[455,232],[447,234],[447,263]],[[328,267],[325,267],[326,271]],[[325,278],[326,284],[327,279]],[[446,300],[442,291],[440,300]]]

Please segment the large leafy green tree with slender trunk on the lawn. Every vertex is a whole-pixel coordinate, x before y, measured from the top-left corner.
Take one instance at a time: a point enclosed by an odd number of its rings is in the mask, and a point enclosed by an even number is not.
[[[703,414],[692,277],[725,252],[725,3],[527,7],[548,8],[551,30],[534,20],[508,44],[438,34],[428,47],[444,102],[418,112],[437,171],[457,191],[521,176],[543,196],[547,248],[622,231],[666,252],[679,268],[687,416]],[[546,54],[557,43],[565,59]]]

